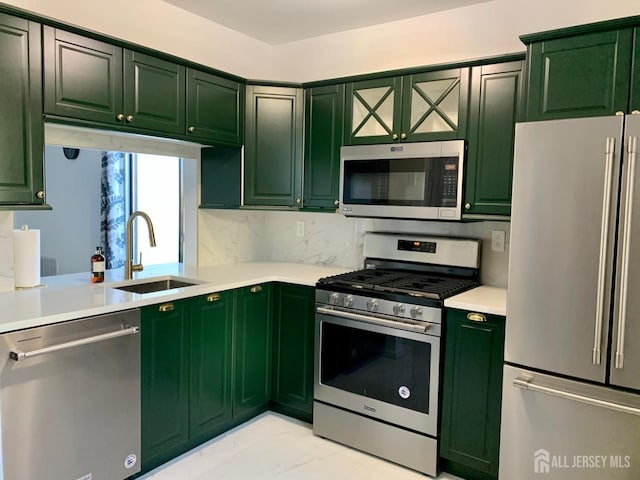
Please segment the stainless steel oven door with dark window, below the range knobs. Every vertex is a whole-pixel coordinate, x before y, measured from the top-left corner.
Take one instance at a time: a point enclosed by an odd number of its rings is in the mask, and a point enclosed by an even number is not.
[[[435,437],[439,327],[436,336],[316,313],[314,399]]]

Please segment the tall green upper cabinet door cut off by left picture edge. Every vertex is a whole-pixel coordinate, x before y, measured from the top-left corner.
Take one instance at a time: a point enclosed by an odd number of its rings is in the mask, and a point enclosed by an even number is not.
[[[0,51],[0,204],[43,204],[40,24],[0,14]]]

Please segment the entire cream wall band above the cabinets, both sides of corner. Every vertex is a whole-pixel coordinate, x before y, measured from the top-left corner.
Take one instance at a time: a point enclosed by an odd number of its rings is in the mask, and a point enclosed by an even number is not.
[[[493,0],[272,47],[161,0],[3,2],[246,78],[294,82],[519,52],[521,34],[640,15],[638,0]]]

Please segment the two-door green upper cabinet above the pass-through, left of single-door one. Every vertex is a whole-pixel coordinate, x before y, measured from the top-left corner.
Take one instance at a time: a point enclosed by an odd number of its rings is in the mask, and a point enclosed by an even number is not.
[[[185,68],[44,27],[45,113],[184,134]]]

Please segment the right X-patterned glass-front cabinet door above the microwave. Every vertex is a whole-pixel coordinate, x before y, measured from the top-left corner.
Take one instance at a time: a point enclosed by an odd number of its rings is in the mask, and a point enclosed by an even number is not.
[[[465,138],[468,92],[468,68],[403,77],[400,140]]]

